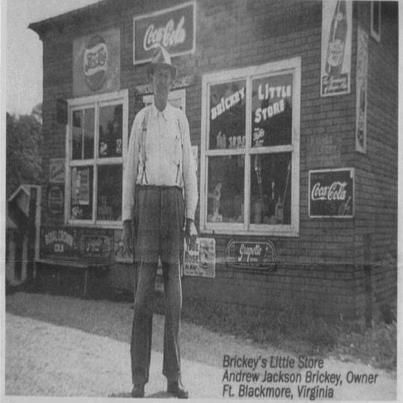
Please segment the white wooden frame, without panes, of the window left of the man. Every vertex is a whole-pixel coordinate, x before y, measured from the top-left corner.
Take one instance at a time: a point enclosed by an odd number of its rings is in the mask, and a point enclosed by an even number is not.
[[[99,113],[100,108],[108,105],[122,105],[122,156],[101,158],[99,152]],[[122,182],[123,170],[125,166],[126,154],[128,149],[128,110],[129,96],[128,90],[120,90],[105,94],[90,95],[86,97],[73,98],[67,100],[68,118],[66,125],[66,144],[65,144],[65,197],[64,197],[64,223],[69,226],[76,227],[96,227],[96,228],[121,228],[122,220],[98,220],[96,217],[97,202],[98,202],[98,167],[102,165],[120,165],[122,167]],[[94,155],[91,159],[73,160],[72,159],[72,117],[73,112],[86,108],[94,108]],[[93,182],[92,182],[92,218],[74,219],[71,218],[71,169],[73,167],[93,167]],[[123,192],[121,195],[123,208]]]

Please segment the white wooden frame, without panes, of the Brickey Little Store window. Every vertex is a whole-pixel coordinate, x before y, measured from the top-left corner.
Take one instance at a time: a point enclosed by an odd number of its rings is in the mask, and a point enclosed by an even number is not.
[[[252,147],[252,80],[273,75],[292,74],[292,140],[289,145]],[[209,150],[209,108],[210,86],[235,80],[245,80],[245,148]],[[229,235],[299,235],[299,199],[300,199],[300,106],[301,106],[301,58],[266,63],[239,69],[207,73],[202,77],[202,113],[201,113],[201,156],[200,156],[200,231],[206,234]],[[252,224],[250,222],[251,196],[251,155],[291,152],[291,223],[290,224]],[[244,155],[244,223],[213,223],[207,221],[208,203],[208,159],[212,156]]]

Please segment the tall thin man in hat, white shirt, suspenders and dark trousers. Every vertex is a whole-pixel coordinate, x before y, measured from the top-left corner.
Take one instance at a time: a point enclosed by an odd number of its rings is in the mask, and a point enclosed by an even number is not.
[[[144,397],[151,358],[152,302],[158,258],[165,292],[164,359],[167,391],[186,399],[181,382],[179,325],[183,230],[194,241],[197,179],[185,114],[168,103],[176,76],[167,50],[158,47],[148,68],[154,104],[143,108],[131,129],[123,174],[123,242],[137,268],[131,339],[132,397]]]

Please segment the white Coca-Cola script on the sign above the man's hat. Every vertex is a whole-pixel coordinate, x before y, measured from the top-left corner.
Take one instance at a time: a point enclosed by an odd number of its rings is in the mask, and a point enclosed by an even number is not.
[[[166,25],[162,27],[155,27],[154,24],[150,24],[144,35],[144,50],[151,50],[156,45],[163,45],[166,48],[170,48],[184,43],[186,40],[184,24],[185,17],[179,20],[176,27],[173,19],[170,19]]]

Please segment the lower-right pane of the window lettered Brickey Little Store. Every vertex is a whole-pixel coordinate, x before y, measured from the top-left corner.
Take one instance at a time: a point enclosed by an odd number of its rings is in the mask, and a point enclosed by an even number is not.
[[[251,156],[251,224],[290,224],[291,153]]]

